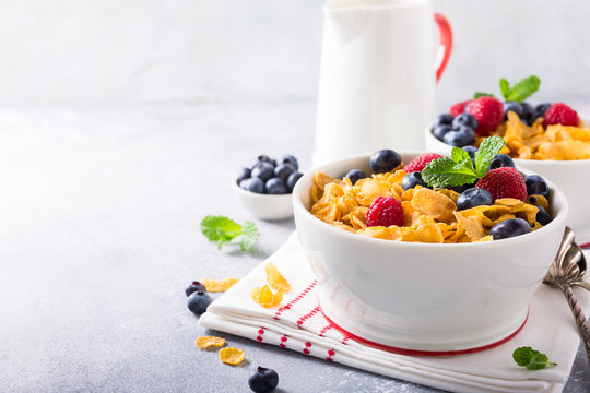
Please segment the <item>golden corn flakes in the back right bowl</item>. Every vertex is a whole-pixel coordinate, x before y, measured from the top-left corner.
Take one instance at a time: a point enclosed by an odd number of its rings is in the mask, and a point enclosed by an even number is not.
[[[543,118],[538,118],[529,127],[518,115],[509,111],[495,133],[506,141],[500,151],[514,158],[522,159],[590,159],[590,127],[553,124],[543,128]],[[479,139],[481,143],[483,139]]]

